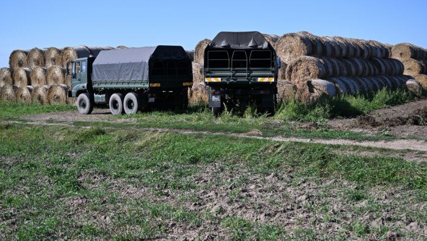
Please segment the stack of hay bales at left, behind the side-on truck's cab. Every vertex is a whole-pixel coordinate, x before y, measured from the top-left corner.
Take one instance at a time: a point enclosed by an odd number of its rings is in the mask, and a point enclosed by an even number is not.
[[[10,68],[0,69],[0,100],[72,104],[67,98],[71,77],[66,75],[67,62],[89,55],[96,57],[101,50],[110,49],[115,48],[80,45],[14,50],[9,57]]]

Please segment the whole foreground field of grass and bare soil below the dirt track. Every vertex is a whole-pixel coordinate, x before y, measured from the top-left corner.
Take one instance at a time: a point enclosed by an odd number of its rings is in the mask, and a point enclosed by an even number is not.
[[[0,136],[4,239],[426,237],[425,162],[123,128]]]

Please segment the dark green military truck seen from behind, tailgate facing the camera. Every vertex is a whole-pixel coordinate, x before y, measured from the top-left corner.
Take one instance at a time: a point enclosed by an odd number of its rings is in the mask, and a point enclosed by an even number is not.
[[[219,33],[204,49],[203,69],[214,116],[250,104],[274,114],[280,58],[261,33]]]

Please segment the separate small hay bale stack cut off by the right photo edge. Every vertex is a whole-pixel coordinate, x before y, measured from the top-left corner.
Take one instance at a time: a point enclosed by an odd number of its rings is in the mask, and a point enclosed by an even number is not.
[[[427,88],[427,50],[419,46],[401,43],[391,49],[391,57],[402,61],[404,74],[411,75],[423,88]]]

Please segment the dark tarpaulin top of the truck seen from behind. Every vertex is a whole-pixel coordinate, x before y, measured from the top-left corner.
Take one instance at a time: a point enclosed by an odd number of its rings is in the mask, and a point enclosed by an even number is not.
[[[209,49],[269,49],[260,32],[220,32],[207,46]]]

